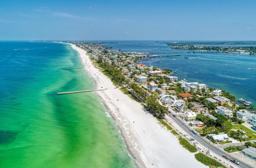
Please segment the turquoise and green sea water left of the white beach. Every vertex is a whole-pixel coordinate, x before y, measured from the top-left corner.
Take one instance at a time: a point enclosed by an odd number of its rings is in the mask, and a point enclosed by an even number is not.
[[[0,42],[1,167],[136,167],[67,44]]]

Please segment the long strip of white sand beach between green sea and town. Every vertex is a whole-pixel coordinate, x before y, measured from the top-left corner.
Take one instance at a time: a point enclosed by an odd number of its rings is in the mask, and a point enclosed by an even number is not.
[[[140,103],[114,89],[112,81],[95,68],[85,50],[71,44],[80,54],[86,70],[94,78],[96,87],[107,88],[97,94],[109,109],[119,127],[127,149],[142,167],[206,167],[194,154],[184,149],[178,139],[151,114],[146,114]]]

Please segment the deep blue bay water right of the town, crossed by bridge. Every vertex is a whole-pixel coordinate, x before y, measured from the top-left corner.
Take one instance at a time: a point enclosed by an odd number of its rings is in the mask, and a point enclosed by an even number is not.
[[[163,41],[111,41],[112,50],[123,52],[177,51]],[[236,45],[238,46],[238,45]],[[151,54],[152,55],[152,54]],[[157,54],[175,55],[175,54]],[[256,104],[256,55],[238,53],[181,53],[176,57],[139,60],[146,65],[170,69],[179,78],[205,83]],[[183,59],[188,57],[188,59]],[[174,60],[175,59],[175,60]]]

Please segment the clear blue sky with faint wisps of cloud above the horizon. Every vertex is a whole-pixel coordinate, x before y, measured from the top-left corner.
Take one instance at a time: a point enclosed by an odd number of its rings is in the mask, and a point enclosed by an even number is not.
[[[0,40],[256,40],[255,0],[0,4]]]

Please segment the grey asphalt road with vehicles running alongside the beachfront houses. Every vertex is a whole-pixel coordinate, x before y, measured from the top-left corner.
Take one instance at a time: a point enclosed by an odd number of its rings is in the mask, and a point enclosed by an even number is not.
[[[190,129],[190,127],[189,126],[187,126],[186,124],[185,125],[183,125],[182,124],[182,122],[183,121],[181,121],[178,117],[172,117],[172,119],[188,134],[188,135],[190,135],[190,131],[189,131],[189,129]],[[191,135],[190,135],[191,136]],[[197,135],[194,135],[194,136],[191,136],[191,137],[193,137],[194,139],[195,139],[195,141],[197,141],[198,143],[200,143],[200,144],[202,144],[206,149],[208,149],[208,147],[209,147],[209,140],[207,139],[207,138],[205,138],[205,137],[203,137],[203,136],[201,136],[201,135],[199,135],[199,134],[197,134]],[[229,155],[227,152],[225,152],[225,151],[223,151],[222,149],[220,149],[220,148],[218,148],[218,147],[216,147],[216,146],[214,146],[214,145],[212,145],[212,143],[210,142],[210,152],[214,152],[215,154],[217,154],[217,155],[219,155],[219,156],[221,156],[221,157],[223,157],[222,155],[227,155],[227,156],[229,156],[230,158],[233,158],[231,155]],[[223,159],[225,159],[225,158],[223,158]],[[239,165],[237,165],[238,167],[245,167],[245,168],[251,168],[252,166],[250,166],[250,165],[248,165],[247,163],[245,163],[245,162],[243,162],[243,161],[241,161],[241,160],[239,160],[238,158],[236,158],[238,161],[239,161]],[[229,162],[231,162],[230,160],[228,160],[228,159],[225,159],[227,162],[229,161]],[[231,163],[233,163],[233,162],[231,162]],[[234,163],[233,163],[234,164]]]

